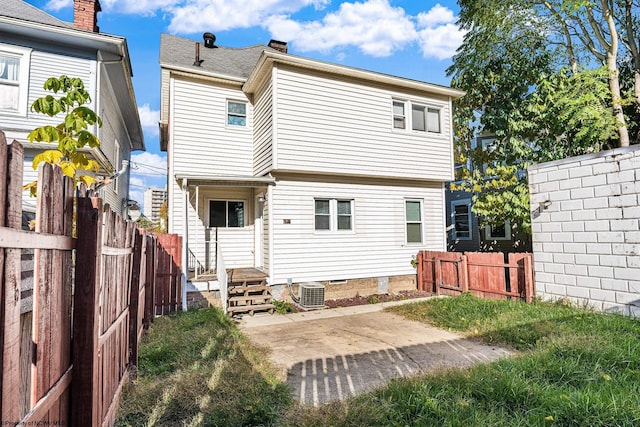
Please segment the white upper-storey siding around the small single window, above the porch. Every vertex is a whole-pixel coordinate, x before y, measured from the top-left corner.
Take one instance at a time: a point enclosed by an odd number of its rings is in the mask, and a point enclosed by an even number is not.
[[[240,89],[173,78],[172,151],[174,174],[253,175],[252,108],[247,126],[227,126],[227,100],[246,97]]]

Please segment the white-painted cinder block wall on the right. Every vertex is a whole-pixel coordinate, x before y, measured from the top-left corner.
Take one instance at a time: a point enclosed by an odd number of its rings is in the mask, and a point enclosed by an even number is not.
[[[528,173],[536,294],[640,316],[640,146]]]

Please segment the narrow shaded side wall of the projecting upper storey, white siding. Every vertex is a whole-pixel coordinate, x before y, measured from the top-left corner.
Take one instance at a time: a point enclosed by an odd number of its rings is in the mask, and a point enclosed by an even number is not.
[[[273,166],[273,85],[269,80],[256,95],[253,127],[253,169],[257,176],[268,173]]]

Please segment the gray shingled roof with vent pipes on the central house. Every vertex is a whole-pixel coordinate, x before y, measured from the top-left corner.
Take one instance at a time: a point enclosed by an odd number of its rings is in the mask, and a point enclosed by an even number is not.
[[[3,0],[0,0],[3,1]],[[196,40],[162,34],[160,36],[160,63],[181,68],[192,68],[194,72],[210,72],[246,79],[255,67],[264,50],[275,51],[269,46],[255,45],[244,48],[219,46],[206,48],[200,41],[200,67],[193,65],[196,58]]]

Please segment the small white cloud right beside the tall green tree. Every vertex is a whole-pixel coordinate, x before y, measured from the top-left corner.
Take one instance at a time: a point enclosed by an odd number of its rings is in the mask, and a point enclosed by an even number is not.
[[[418,14],[418,26],[418,44],[425,58],[451,58],[465,34],[456,25],[453,11],[439,4]]]

